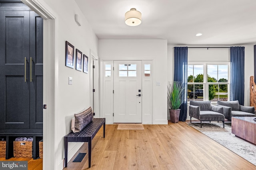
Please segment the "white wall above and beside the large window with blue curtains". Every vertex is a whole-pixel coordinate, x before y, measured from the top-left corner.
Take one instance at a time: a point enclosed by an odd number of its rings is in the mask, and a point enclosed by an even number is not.
[[[210,45],[210,47],[232,47],[234,45]],[[244,49],[244,106],[250,106],[250,76],[254,76],[254,46],[239,45]],[[174,47],[179,45],[168,45],[168,81],[174,78]],[[209,46],[188,46],[188,47],[209,47]],[[229,48],[188,48],[188,62],[230,62]]]

